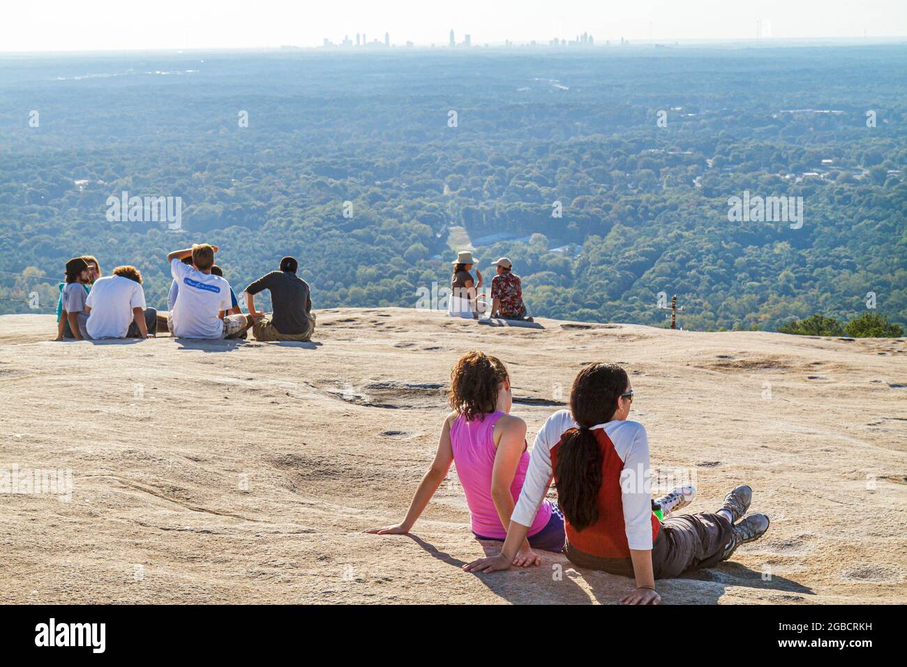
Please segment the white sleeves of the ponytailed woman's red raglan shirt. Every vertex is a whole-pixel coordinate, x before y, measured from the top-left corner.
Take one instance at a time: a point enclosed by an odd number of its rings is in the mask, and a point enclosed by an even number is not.
[[[545,421],[535,443],[522,485],[520,499],[513,509],[511,520],[520,525],[532,525],[535,513],[551,485],[551,448],[561,441],[570,428],[579,426],[570,410],[559,410]],[[649,478],[649,438],[646,428],[635,421],[610,421],[592,429],[604,428],[620,460],[624,463],[620,475],[624,525],[630,549],[652,548],[652,495]]]

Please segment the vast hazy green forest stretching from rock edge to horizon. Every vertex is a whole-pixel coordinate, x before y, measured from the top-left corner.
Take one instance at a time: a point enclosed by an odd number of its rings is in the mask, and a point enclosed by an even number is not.
[[[413,307],[468,235],[533,315],[904,325],[905,72],[902,45],[4,56],[0,313],[50,312],[77,254],[164,308],[202,241],[238,292],[292,254],[316,308]],[[108,220],[122,191],[180,229]],[[802,225],[730,220],[745,195]]]

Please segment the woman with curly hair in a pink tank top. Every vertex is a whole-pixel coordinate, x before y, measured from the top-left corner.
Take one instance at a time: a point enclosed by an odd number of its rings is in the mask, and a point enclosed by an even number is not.
[[[507,368],[500,359],[482,352],[463,355],[451,371],[448,399],[453,412],[444,418],[434,462],[416,489],[404,520],[366,533],[408,533],[444,481],[451,463],[456,463],[473,535],[499,542],[507,536],[505,526],[510,525],[529,466],[526,423],[509,414],[513,397]],[[513,555],[514,565],[537,563],[532,547],[555,552],[563,549],[563,517],[557,505],[542,500],[529,523]]]

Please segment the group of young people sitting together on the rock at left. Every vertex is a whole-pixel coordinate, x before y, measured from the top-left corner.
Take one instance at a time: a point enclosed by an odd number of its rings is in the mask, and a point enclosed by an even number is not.
[[[278,270],[243,290],[248,309],[244,315],[223,270],[214,263],[218,250],[202,243],[167,256],[173,281],[166,313],[146,307],[135,267],[120,266],[112,276],[102,277],[98,260],[74,257],[66,262],[65,282],[60,283],[56,339],[148,338],[159,331],[170,331],[174,338],[246,338],[249,329],[257,340],[311,339],[315,313],[308,284],[296,275],[296,259],[283,258]],[[270,315],[255,307],[255,295],[264,289],[271,294]]]

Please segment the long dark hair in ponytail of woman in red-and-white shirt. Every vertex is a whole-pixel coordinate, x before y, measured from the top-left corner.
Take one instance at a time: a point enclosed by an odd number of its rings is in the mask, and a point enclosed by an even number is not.
[[[570,409],[580,428],[568,431],[558,448],[554,476],[558,505],[578,531],[599,520],[602,456],[591,427],[610,421],[628,382],[616,364],[590,364],[573,380]]]

